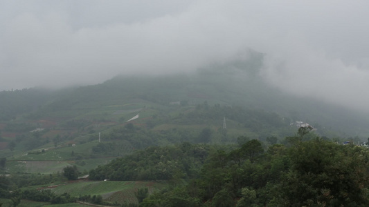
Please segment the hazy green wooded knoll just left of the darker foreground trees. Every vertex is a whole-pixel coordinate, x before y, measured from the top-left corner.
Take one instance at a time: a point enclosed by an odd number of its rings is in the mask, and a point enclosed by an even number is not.
[[[89,179],[171,180],[199,175],[210,146],[183,143],[175,146],[150,146],[132,155],[115,159],[89,172]]]

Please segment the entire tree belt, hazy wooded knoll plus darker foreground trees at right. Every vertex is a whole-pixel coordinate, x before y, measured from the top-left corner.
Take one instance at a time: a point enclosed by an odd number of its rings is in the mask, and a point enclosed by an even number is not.
[[[172,181],[140,206],[368,206],[368,149],[305,136],[309,130],[268,148],[255,139],[237,148],[147,148],[91,170],[90,177]]]

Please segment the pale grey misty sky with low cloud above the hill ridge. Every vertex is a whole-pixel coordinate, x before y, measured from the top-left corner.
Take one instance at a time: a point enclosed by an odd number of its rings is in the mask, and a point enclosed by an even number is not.
[[[369,111],[369,1],[0,0],[0,90],[194,71],[245,48],[265,80]]]

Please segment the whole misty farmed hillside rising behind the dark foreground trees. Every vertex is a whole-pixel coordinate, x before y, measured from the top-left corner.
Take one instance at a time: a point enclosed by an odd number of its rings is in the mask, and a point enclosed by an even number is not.
[[[251,59],[213,63],[194,73],[0,92],[0,172],[12,177],[5,188],[58,186],[55,195],[45,195],[49,202],[74,201],[73,188],[91,183],[73,187],[60,175],[69,166],[90,179],[178,185],[204,176],[201,169],[219,150],[236,153],[250,140],[264,150],[291,145],[288,137],[296,135],[298,124],[314,126],[308,139],[366,141],[365,114],[272,88],[259,75],[262,58],[254,52]],[[232,153],[226,159],[237,161]],[[129,192],[137,203],[137,187],[126,187],[91,195],[123,204],[122,193]],[[6,192],[0,190],[10,197]]]

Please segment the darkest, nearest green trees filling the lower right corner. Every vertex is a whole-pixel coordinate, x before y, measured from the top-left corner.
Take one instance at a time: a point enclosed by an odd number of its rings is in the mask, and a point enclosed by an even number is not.
[[[210,155],[200,177],[141,206],[368,206],[368,150],[320,138]]]

